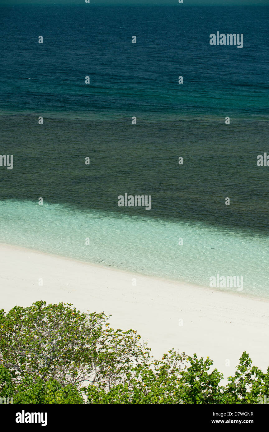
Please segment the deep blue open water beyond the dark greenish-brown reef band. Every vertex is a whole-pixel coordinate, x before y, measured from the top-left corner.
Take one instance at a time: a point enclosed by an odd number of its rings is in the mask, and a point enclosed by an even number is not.
[[[2,7],[0,108],[263,117],[268,15],[266,6]],[[217,31],[243,33],[243,48],[211,46]]]

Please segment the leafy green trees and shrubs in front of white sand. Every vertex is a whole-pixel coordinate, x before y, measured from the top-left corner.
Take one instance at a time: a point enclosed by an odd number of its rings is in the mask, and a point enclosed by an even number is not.
[[[43,301],[2,309],[0,397],[34,404],[246,404],[269,395],[269,368],[252,366],[246,352],[221,385],[209,358],[171,349],[154,360],[135,330],[114,330],[108,319]]]

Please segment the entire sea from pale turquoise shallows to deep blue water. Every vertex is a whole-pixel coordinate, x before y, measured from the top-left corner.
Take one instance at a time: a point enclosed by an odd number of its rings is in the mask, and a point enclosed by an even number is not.
[[[268,10],[1,6],[0,241],[268,297]]]

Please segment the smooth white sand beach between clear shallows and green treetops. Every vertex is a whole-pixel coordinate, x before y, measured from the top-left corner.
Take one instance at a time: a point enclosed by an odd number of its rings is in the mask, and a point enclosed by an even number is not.
[[[209,356],[227,377],[246,350],[269,365],[269,301],[142,276],[11,245],[0,245],[0,308],[37,300],[105,311],[114,328],[137,330],[156,357],[172,347]],[[43,279],[43,286],[38,281]],[[132,283],[136,278],[136,286]],[[183,320],[183,325],[179,325]],[[228,365],[230,361],[230,366]]]

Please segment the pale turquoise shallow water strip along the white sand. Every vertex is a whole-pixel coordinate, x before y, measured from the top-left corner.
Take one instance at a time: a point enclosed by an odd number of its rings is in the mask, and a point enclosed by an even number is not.
[[[0,218],[5,243],[203,286],[218,273],[243,276],[241,293],[269,297],[266,237],[204,223],[17,200],[0,201]]]

